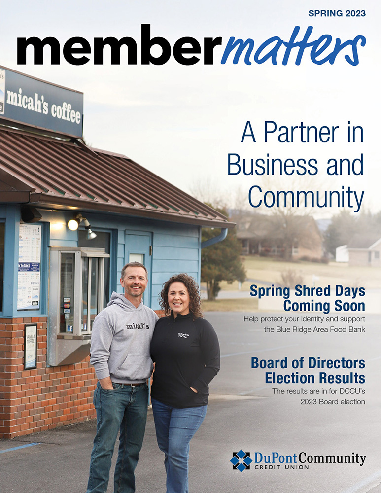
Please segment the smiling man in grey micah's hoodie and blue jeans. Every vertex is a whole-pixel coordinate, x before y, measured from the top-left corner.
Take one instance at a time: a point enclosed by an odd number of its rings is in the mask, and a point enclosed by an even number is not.
[[[114,493],[135,492],[135,467],[147,418],[147,379],[153,369],[150,342],[158,319],[143,305],[147,270],[139,262],[122,269],[124,295],[112,293],[94,320],[90,362],[98,384],[94,392],[97,434],[91,453],[87,493],[107,490],[111,457],[120,430]]]

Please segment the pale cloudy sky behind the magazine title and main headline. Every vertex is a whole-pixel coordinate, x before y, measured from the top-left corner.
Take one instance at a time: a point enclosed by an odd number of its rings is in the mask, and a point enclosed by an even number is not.
[[[90,145],[127,155],[143,167],[180,189],[198,193],[205,200],[224,197],[231,207],[248,203],[252,186],[265,190],[342,190],[344,186],[364,191],[361,211],[381,209],[378,115],[380,46],[376,2],[362,1],[365,16],[346,17],[346,9],[359,3],[332,0],[331,10],[343,9],[343,16],[311,17],[317,7],[310,0],[238,1],[153,1],[153,0],[42,0],[18,1],[17,6],[1,2],[0,65],[33,75],[84,93],[83,135]],[[90,62],[73,66],[61,57],[51,65],[34,65],[28,52],[27,65],[17,65],[17,38],[56,37],[61,46],[70,37],[81,36],[93,45],[94,37],[130,36],[140,43],[141,24],[151,25],[151,36],[163,36],[173,46],[183,36],[203,42],[204,37],[222,36],[214,51],[214,64],[199,62],[182,66],[173,58],[162,66],[128,65],[126,53],[120,65]],[[283,66],[252,63],[220,64],[224,46],[231,36],[263,41],[279,36],[289,39],[295,26],[300,37],[308,26],[311,39],[324,34],[342,41],[356,35],[366,37],[359,47],[359,64],[351,66],[343,56],[330,65],[311,62],[307,50],[300,66],[295,60]],[[294,50],[295,51],[295,50]],[[160,51],[152,49],[156,56]],[[243,59],[243,56],[242,56]],[[139,52],[138,52],[139,61]],[[242,135],[250,121],[255,140]],[[339,126],[336,141],[326,143],[279,142],[279,132],[264,142],[264,122],[285,126]],[[363,142],[347,143],[347,122],[363,127]],[[228,175],[228,154],[251,159],[308,159],[318,162],[318,174],[295,180],[294,176],[245,176],[242,171]],[[363,154],[363,175],[327,176],[330,158],[352,162]],[[357,162],[358,163],[358,162]],[[358,164],[357,164],[358,166]],[[234,169],[234,167],[232,167]],[[237,168],[235,168],[237,170]],[[262,208],[270,212],[270,208]],[[355,208],[351,209],[352,211]],[[329,216],[337,209],[314,210]]]

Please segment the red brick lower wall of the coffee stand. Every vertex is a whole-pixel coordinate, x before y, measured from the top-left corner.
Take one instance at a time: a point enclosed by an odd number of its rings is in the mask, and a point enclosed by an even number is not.
[[[24,324],[37,323],[37,368],[24,370]],[[95,418],[90,357],[46,367],[47,318],[0,318],[0,438]]]

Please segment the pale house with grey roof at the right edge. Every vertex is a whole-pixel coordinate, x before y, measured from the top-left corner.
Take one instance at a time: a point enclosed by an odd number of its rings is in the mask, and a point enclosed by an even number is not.
[[[354,235],[348,243],[349,266],[381,266],[380,235]]]

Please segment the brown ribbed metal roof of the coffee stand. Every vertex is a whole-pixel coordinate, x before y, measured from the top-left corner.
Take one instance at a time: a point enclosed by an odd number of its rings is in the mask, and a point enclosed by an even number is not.
[[[116,212],[215,227],[234,223],[126,156],[0,127],[0,202]]]

